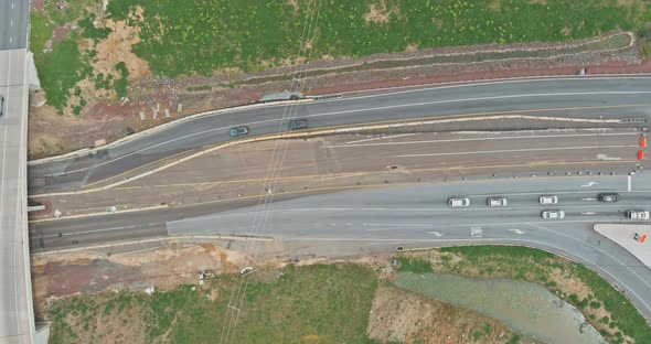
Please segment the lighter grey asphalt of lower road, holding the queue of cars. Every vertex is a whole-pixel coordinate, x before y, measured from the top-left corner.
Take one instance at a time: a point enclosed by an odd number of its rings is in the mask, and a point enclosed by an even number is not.
[[[170,235],[264,235],[306,241],[393,241],[426,246],[445,243],[513,243],[544,248],[578,260],[625,289],[651,319],[651,270],[593,230],[595,223],[627,221],[627,209],[651,209],[651,180],[636,175],[556,178],[492,183],[428,184],[342,192],[223,212],[167,224]],[[601,192],[619,192],[618,203],[597,201]],[[543,194],[555,205],[538,204]],[[468,208],[450,208],[450,196],[467,196]],[[509,205],[491,208],[487,197],[504,196]],[[545,209],[562,209],[564,219],[543,219]]]

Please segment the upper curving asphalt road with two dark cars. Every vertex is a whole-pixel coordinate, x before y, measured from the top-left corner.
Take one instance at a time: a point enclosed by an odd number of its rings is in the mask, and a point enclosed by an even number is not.
[[[230,140],[228,129],[246,125],[252,135],[308,118],[311,128],[440,116],[525,114],[589,118],[648,118],[651,78],[568,78],[444,86],[316,101],[266,106],[203,116],[157,130],[93,155],[32,163],[30,194],[77,190],[151,161]],[[490,123],[487,123],[490,129]]]

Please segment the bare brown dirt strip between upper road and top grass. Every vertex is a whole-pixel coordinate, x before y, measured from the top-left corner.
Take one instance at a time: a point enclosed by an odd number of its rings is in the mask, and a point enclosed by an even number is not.
[[[378,4],[380,6],[380,4]],[[138,11],[132,20],[138,20]],[[111,44],[99,43],[102,54],[110,56],[110,63],[104,63],[105,69],[115,71],[115,63],[125,61],[129,69],[131,86],[128,97],[130,99],[120,106],[119,99],[111,99],[113,90],[98,93],[98,99],[86,99],[88,106],[79,117],[81,121],[68,121],[72,116],[45,116],[44,112],[55,114],[55,109],[49,106],[31,109],[30,116],[30,159],[39,159],[52,154],[74,151],[81,148],[93,147],[99,139],[111,142],[125,136],[127,127],[140,131],[156,127],[188,115],[215,108],[225,108],[236,105],[250,104],[263,95],[282,92],[292,87],[291,75],[296,72],[296,65],[301,60],[287,58],[281,61],[280,67],[262,72],[244,73],[236,68],[216,71],[211,77],[182,77],[178,79],[160,78],[150,75],[146,63],[128,53],[132,44],[138,42],[137,32],[121,28],[120,23],[107,22],[115,31],[109,41]],[[604,37],[611,36],[609,33]],[[351,66],[364,66],[364,63],[376,61],[409,61],[427,58],[434,55],[473,54],[492,51],[527,51],[542,49],[555,50],[574,45],[586,44],[595,40],[572,41],[563,43],[527,43],[512,45],[479,45],[457,46],[445,49],[428,49],[414,51],[416,46],[407,49],[407,52],[395,54],[378,54],[362,58],[332,58],[322,57],[310,63],[309,71],[327,71],[324,74],[308,76],[306,80],[307,94],[329,94],[339,92],[354,92],[361,89],[383,88],[392,86],[423,85],[451,80],[477,80],[483,78],[500,78],[514,76],[544,76],[574,74],[577,68],[589,66],[590,73],[641,73],[650,72],[651,63],[640,64],[637,46],[608,51],[585,52],[574,55],[563,55],[548,58],[515,58],[504,61],[484,61],[480,63],[434,64],[417,65],[401,68],[372,68],[353,72],[341,72],[340,68]],[[111,50],[117,53],[111,53]],[[124,52],[124,56],[121,55]],[[99,52],[98,52],[99,54]],[[104,56],[103,55],[103,56]],[[275,62],[269,62],[269,66]],[[367,65],[367,64],[366,64]],[[115,73],[115,72],[111,72]],[[311,72],[310,72],[311,73]],[[193,90],[193,87],[207,86],[204,92]],[[183,110],[178,112],[177,106],[182,105]],[[160,107],[158,118],[153,119],[153,108]],[[163,109],[169,109],[171,118],[162,116]],[[140,120],[140,112],[146,117]],[[40,123],[34,123],[34,121]],[[65,132],[65,135],[63,135]],[[77,135],[83,132],[83,135]],[[54,135],[53,135],[54,133]],[[62,135],[60,135],[62,133]],[[61,140],[64,148],[61,152],[54,152],[45,146],[40,146],[38,138],[53,135]],[[36,139],[36,140],[34,140]]]

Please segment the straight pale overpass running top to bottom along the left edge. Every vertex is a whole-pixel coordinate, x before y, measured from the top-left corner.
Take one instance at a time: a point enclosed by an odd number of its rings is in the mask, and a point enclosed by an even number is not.
[[[29,1],[0,3],[0,343],[33,343],[26,218]]]

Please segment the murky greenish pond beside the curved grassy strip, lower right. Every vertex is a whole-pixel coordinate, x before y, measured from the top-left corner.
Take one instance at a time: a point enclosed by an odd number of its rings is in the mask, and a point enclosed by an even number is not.
[[[399,272],[394,284],[485,314],[544,343],[606,343],[579,310],[538,284],[412,272]]]

